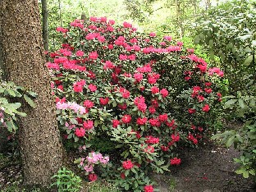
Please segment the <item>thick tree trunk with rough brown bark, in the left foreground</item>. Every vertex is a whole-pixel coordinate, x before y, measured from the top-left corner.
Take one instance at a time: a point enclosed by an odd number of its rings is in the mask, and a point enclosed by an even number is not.
[[[62,143],[45,67],[38,0],[0,1],[0,43],[7,80],[38,94],[36,108],[22,102],[19,146],[25,185],[47,186],[62,166]]]

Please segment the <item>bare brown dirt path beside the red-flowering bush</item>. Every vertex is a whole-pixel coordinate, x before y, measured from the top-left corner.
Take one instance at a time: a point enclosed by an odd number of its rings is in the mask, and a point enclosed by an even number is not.
[[[253,181],[235,174],[234,149],[207,144],[202,149],[184,149],[182,164],[171,175],[159,176],[161,192],[255,192]]]

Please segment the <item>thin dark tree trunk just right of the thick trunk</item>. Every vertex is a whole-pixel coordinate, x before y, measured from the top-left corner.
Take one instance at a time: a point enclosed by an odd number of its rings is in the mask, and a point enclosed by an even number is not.
[[[48,51],[49,33],[48,33],[48,9],[47,0],[42,0],[42,16],[43,16],[43,48]]]

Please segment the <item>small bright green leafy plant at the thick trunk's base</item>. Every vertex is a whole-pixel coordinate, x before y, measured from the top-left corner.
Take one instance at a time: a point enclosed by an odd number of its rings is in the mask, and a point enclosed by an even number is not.
[[[51,185],[57,185],[57,191],[79,191],[81,188],[80,182],[82,181],[80,176],[75,176],[73,171],[66,169],[66,167],[62,167],[59,171],[57,171],[57,175],[54,175],[52,179],[55,182]]]

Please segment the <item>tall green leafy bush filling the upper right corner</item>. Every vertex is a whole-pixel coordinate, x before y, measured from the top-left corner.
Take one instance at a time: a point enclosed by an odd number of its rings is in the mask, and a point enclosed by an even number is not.
[[[196,22],[194,42],[220,58],[230,94],[244,90],[244,78],[255,75],[256,11],[253,1],[228,1],[206,12]]]

